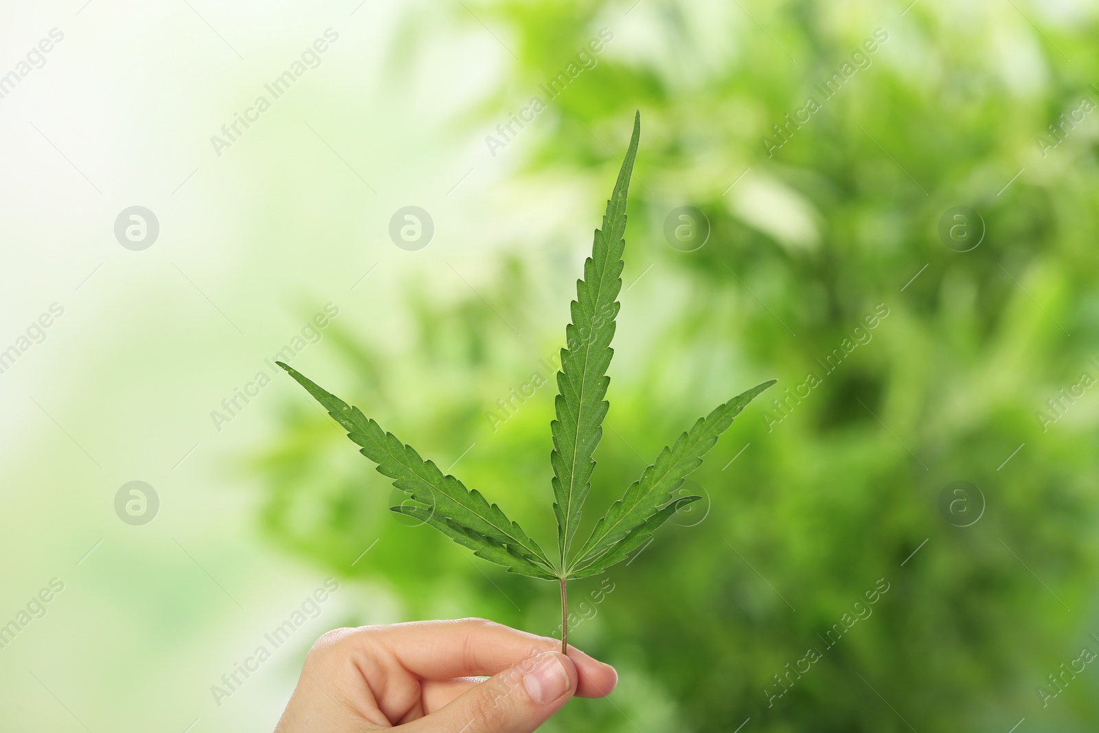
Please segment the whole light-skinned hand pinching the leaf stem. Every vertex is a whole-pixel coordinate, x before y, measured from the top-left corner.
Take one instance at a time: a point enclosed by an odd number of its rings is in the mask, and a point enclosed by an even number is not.
[[[310,649],[275,733],[530,733],[618,684],[610,665],[567,651],[484,619],[337,629]]]

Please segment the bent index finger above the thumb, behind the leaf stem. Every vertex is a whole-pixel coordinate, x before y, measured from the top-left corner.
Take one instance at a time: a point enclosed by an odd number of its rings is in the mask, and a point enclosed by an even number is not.
[[[560,648],[560,642],[537,636],[484,619],[412,621],[385,626],[362,626],[348,632],[374,649],[391,653],[421,679],[491,676],[543,652]],[[618,684],[618,673],[574,646],[568,657],[579,676],[577,695],[600,698]]]

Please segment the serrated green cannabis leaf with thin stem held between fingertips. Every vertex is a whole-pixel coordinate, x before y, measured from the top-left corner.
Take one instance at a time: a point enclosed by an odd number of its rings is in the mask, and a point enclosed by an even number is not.
[[[391,507],[430,524],[475,555],[503,566],[509,573],[556,580],[560,585],[562,652],[568,649],[569,578],[586,578],[607,570],[648,542],[653,533],[677,511],[701,497],[673,495],[684,480],[702,465],[702,458],[732,424],[733,419],[759,392],[775,384],[765,381],[715,408],[691,429],[665,446],[653,465],[626,489],[600,519],[591,535],[577,552],[573,537],[580,523],[584,501],[591,488],[592,458],[602,437],[603,418],[610,403],[603,399],[614,352],[614,318],[622,289],[622,253],[625,249],[625,207],[630,176],[637,156],[641,113],[634,116],[633,135],[622,168],[597,229],[591,256],[584,263],[584,279],[576,282],[576,300],[569,304],[571,322],[565,327],[566,347],[560,351],[557,373],[558,395],[554,401],[556,418],[550,423],[553,435],[554,517],[557,520],[557,563],[497,504],[490,504],[477,490],[424,460],[410,445],[338,397],[325,391],[286,364],[289,373],[347,431],[359,452],[377,464],[377,470],[392,479],[393,486],[409,495],[411,503]]]

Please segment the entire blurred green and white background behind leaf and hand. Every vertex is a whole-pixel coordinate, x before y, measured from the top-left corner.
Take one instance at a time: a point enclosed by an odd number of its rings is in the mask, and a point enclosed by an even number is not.
[[[328,629],[556,633],[552,584],[397,521],[267,359],[552,545],[544,360],[634,110],[588,524],[780,384],[698,511],[573,584],[621,682],[545,730],[1095,730],[1097,32],[1084,0],[3,3],[0,730],[269,730]],[[135,206],[155,237],[116,235]],[[430,238],[391,238],[409,206]]]

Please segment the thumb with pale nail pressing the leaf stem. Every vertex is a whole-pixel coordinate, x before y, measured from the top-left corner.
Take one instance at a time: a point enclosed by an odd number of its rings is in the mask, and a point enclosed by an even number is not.
[[[531,733],[576,692],[573,660],[545,652],[473,687],[407,726],[409,733]]]

